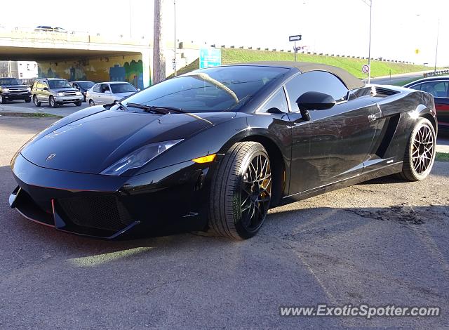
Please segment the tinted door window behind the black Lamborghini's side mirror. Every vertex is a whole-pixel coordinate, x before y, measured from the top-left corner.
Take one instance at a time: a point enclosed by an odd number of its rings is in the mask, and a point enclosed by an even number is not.
[[[292,111],[299,112],[296,100],[309,91],[317,91],[331,95],[337,102],[346,98],[348,88],[342,81],[329,72],[310,71],[298,74],[286,84]]]

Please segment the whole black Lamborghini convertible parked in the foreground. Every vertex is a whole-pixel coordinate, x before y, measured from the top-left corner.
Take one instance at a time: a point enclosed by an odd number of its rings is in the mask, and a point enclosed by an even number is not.
[[[81,235],[179,226],[246,239],[270,207],[393,173],[426,178],[436,130],[429,93],[337,67],[211,67],[46,128],[13,158],[9,202]]]

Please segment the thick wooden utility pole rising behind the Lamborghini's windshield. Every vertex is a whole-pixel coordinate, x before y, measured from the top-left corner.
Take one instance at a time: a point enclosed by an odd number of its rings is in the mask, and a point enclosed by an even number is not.
[[[166,59],[163,56],[163,20],[164,0],[154,0],[154,37],[153,37],[153,82],[157,84],[166,79]]]

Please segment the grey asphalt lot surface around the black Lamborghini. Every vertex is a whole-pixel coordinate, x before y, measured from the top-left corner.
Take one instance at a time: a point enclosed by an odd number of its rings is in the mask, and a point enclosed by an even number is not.
[[[197,233],[106,242],[31,223],[8,206],[11,157],[54,120],[0,117],[0,328],[449,324],[449,162],[436,161],[423,182],[382,178],[272,209],[244,242]],[[281,306],[319,303],[438,306],[441,316],[279,315]]]

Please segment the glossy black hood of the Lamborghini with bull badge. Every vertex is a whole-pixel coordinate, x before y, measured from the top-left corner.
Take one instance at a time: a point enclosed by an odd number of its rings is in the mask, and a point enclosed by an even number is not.
[[[98,174],[142,145],[187,139],[235,116],[235,112],[158,115],[106,110],[49,129],[21,154],[47,169]]]

